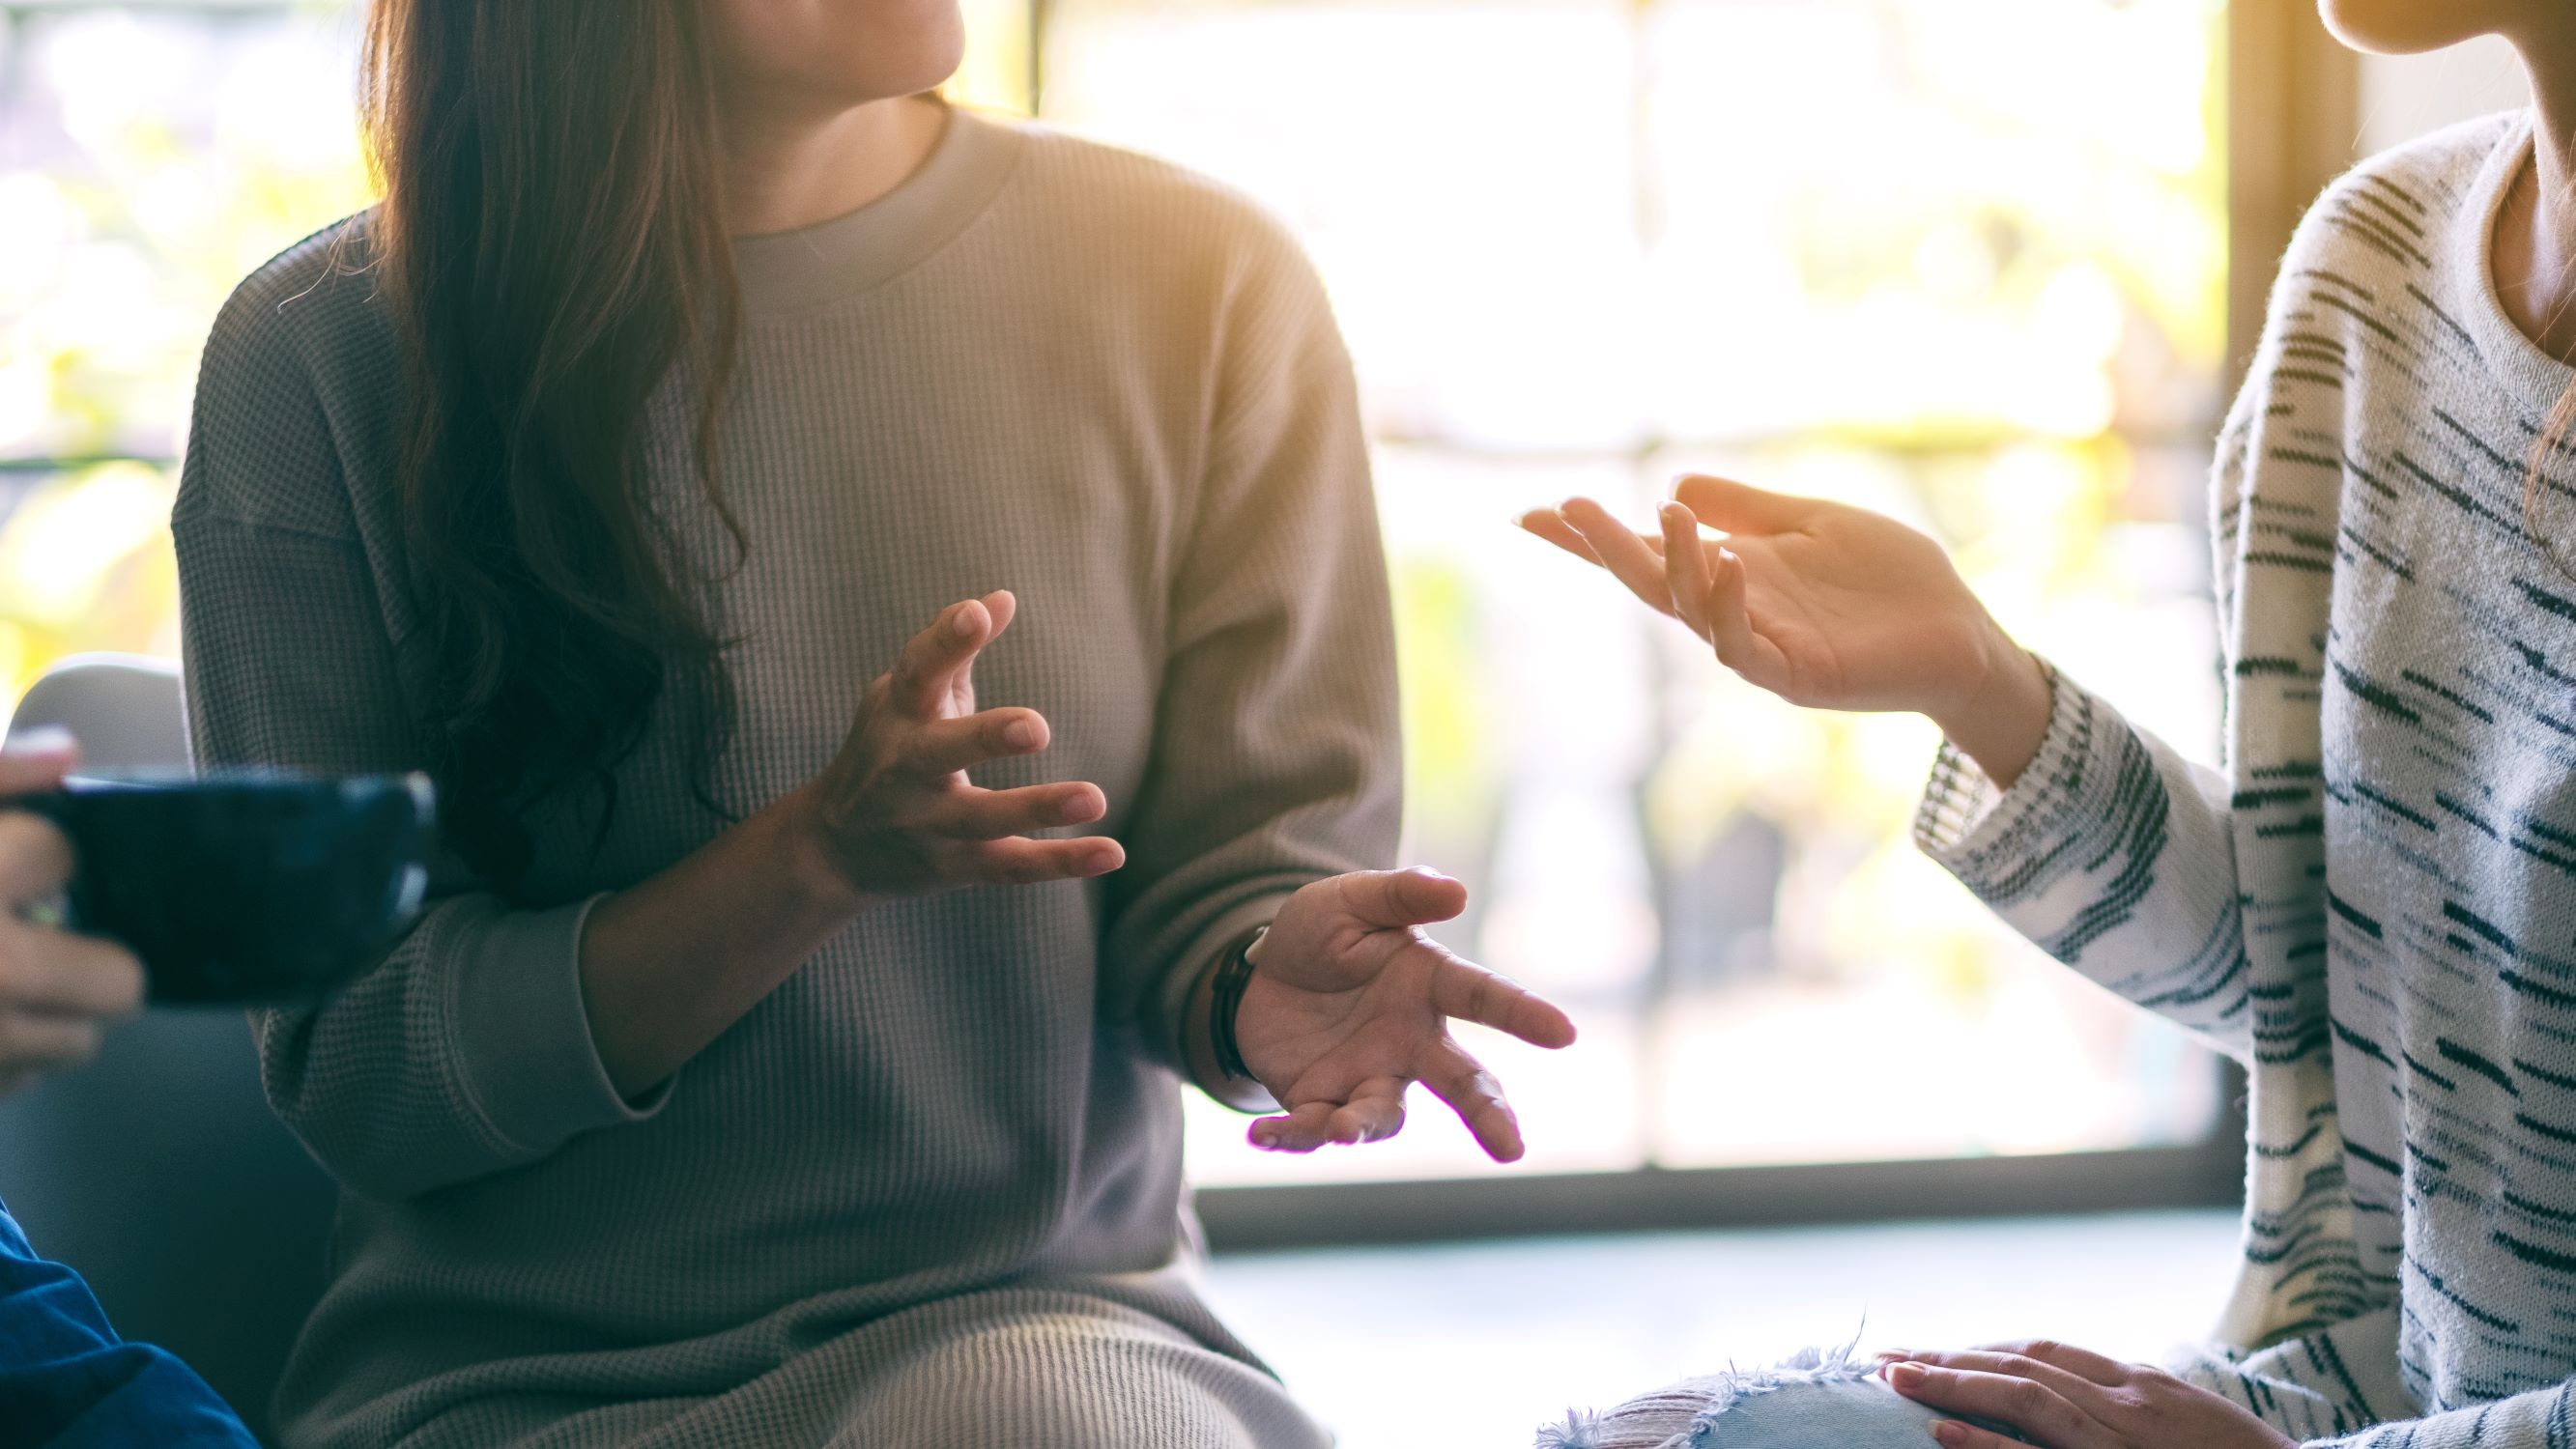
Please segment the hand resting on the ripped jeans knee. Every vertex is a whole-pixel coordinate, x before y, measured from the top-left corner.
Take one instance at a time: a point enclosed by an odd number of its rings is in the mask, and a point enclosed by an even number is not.
[[[1958,1354],[1880,1354],[1888,1387],[1945,1413],[2009,1423],[2048,1449],[2295,1449],[2244,1408],[2148,1364],[2120,1364],[2066,1343],[1989,1343]],[[2012,1449],[2012,1439],[1942,1421],[1950,1449]]]

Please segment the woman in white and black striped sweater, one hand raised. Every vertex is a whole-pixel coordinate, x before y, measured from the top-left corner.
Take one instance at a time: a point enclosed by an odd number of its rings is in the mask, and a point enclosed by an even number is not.
[[[2576,8],[2326,13],[2378,51],[2501,33],[2535,106],[2362,165],[2290,247],[2218,443],[2223,770],[1886,517],[1685,479],[1659,535],[1525,520],[1765,690],[1937,721],[1922,847],[2251,1068],[2221,1349],[1891,1356],[1906,1398],[2056,1449],[2576,1444]]]

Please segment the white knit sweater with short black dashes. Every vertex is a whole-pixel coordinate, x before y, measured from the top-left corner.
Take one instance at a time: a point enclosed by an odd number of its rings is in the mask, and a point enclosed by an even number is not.
[[[2524,528],[2576,381],[2504,317],[2488,118],[2308,214],[2215,466],[2226,770],[2058,682],[1922,844],[2251,1066],[2244,1274],[2192,1369],[2352,1446],[2576,1444],[2576,579]],[[2540,535],[2576,558],[2576,486]]]

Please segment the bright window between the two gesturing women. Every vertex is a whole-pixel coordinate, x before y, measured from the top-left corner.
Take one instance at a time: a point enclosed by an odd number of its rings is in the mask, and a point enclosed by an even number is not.
[[[2213,1060],[1906,842],[1935,734],[1798,713],[1517,535],[1672,474],[1950,540],[2027,641],[2215,736],[2208,0],[1056,0],[1051,121],[1226,178],[1332,286],[1378,438],[1409,860],[1584,1024],[1486,1045],[1543,1168],[2200,1140]],[[1481,1168],[1242,1148],[1200,1181]]]

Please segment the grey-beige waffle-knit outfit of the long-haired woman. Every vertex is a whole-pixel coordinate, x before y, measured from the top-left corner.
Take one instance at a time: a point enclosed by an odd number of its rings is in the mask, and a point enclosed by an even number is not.
[[[402,373],[335,237],[206,347],[175,533],[209,764],[420,764]],[[1319,1444],[1185,1282],[1170,1042],[1221,942],[1394,849],[1386,574],[1321,288],[1203,180],[969,113],[886,201],[737,260],[716,795],[814,777],[909,633],[1010,587],[979,692],[1056,744],[981,782],[1100,782],[1131,865],[878,909],[629,1104],[582,914],[721,829],[659,721],[603,849],[541,818],[523,891],[451,870],[355,988],[260,1022],[345,1184],[286,1441]],[[665,502],[724,558],[688,417],[654,420]]]

